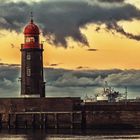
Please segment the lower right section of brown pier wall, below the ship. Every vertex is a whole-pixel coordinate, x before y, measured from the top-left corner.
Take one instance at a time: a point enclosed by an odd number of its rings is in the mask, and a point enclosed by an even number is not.
[[[83,106],[86,128],[140,128],[140,103],[92,103]]]

